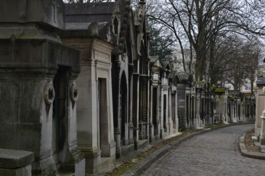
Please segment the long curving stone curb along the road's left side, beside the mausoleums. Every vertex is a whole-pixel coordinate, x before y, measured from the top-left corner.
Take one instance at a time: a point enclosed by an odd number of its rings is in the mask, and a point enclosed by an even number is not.
[[[207,131],[212,131],[212,130],[217,130],[219,128],[224,128],[224,127],[229,127],[229,126],[234,126],[234,125],[246,125],[246,124],[254,124],[254,122],[247,122],[247,123],[232,123],[232,124],[227,124],[223,126],[217,126],[213,128],[208,128],[208,130],[201,130],[197,131],[191,134],[188,134],[187,136],[180,137],[170,144],[156,150],[152,154],[148,155],[145,159],[141,160],[137,165],[131,167],[128,169],[125,173],[122,174],[122,176],[131,176],[131,175],[140,175],[147,167],[149,167],[154,161],[156,161],[158,158],[163,156],[165,153],[167,153],[170,149],[172,149],[174,146],[180,145],[182,142],[185,140],[188,140],[198,134],[202,134]]]

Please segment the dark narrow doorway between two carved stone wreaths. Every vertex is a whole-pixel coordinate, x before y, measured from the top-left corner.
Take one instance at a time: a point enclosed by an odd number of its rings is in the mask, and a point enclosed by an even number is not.
[[[52,107],[52,152],[56,164],[59,163],[59,153],[63,150],[65,140],[66,89],[68,83],[68,68],[59,67],[54,79],[55,99]]]

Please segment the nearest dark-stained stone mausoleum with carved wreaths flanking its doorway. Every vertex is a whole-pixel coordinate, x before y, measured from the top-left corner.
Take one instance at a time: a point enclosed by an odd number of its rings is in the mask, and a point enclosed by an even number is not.
[[[81,53],[55,33],[65,27],[64,3],[4,0],[0,11],[0,148],[33,152],[33,175],[84,175],[76,143]]]

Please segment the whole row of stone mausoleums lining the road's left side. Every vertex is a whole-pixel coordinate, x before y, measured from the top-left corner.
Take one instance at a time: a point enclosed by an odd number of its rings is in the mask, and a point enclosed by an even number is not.
[[[179,128],[254,118],[250,94],[149,56],[144,0],[0,5],[0,175],[95,173]]]

